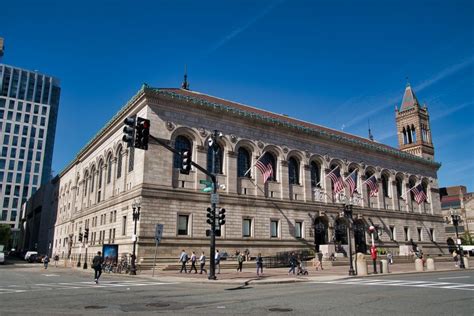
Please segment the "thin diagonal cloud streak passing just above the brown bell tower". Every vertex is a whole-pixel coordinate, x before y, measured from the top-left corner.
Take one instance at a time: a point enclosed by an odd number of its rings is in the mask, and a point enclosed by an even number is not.
[[[435,83],[437,83],[437,82],[439,82],[443,79],[446,79],[447,77],[449,77],[449,76],[451,76],[451,75],[453,75],[453,74],[455,74],[455,73],[471,66],[473,63],[474,63],[474,56],[471,56],[471,57],[469,57],[468,59],[464,60],[461,63],[451,65],[451,66],[441,70],[440,72],[436,73],[431,78],[426,79],[425,81],[423,81],[422,83],[417,85],[414,88],[414,90],[415,90],[415,92],[420,92],[423,89],[426,89],[426,88],[434,85]],[[371,109],[371,110],[369,110],[367,112],[364,112],[363,114],[352,118],[350,121],[348,121],[347,123],[344,124],[345,128],[347,129],[351,126],[354,126],[354,125],[358,124],[361,121],[366,120],[367,118],[369,118],[371,116],[374,116],[375,114],[377,114],[381,111],[386,111],[387,109],[389,109],[391,107],[394,107],[397,104],[397,102],[401,101],[401,98],[402,98],[402,96],[400,96],[399,94],[393,94],[392,93],[391,96],[389,96],[389,97],[379,98],[378,100],[375,100],[376,102],[367,102],[367,100],[362,100],[358,105],[354,104],[354,106],[363,107],[363,108],[367,108],[367,109]],[[466,107],[466,106],[468,106],[468,105],[465,105],[464,107]],[[386,139],[388,137],[391,137],[391,136],[393,136],[393,134],[392,135],[387,134],[387,136],[384,139]]]

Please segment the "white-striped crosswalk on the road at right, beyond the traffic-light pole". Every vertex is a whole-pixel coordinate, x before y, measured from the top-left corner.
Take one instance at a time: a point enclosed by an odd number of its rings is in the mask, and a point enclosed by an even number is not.
[[[461,291],[474,291],[474,284],[438,282],[438,281],[414,281],[414,280],[381,280],[381,279],[343,279],[334,281],[314,281],[312,283],[342,284],[342,285],[375,285],[375,286],[405,286],[414,288],[435,288]]]

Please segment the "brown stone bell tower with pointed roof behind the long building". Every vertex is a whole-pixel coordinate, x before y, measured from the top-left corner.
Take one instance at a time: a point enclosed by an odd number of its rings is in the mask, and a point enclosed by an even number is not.
[[[410,84],[405,88],[400,109],[395,108],[395,118],[400,150],[433,161],[428,108],[426,105],[420,106]]]

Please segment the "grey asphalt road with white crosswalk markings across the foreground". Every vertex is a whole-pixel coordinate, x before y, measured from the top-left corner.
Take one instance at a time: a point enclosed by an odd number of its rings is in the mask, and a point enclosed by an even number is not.
[[[474,315],[474,273],[251,286],[0,266],[0,315]]]

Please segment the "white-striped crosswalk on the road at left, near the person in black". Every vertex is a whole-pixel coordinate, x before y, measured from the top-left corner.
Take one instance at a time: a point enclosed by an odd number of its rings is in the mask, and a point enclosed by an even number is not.
[[[176,284],[172,282],[155,282],[146,280],[122,280],[122,281],[101,281],[95,284],[93,281],[86,282],[56,282],[56,283],[36,283],[21,285],[2,285],[0,286],[0,295],[12,293],[24,293],[32,291],[53,291],[53,290],[73,290],[85,288],[120,288],[136,286],[159,286]]]

